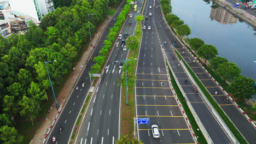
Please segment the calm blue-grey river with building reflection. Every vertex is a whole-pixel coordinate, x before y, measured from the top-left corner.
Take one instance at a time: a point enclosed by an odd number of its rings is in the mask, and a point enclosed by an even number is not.
[[[256,31],[228,11],[212,9],[212,2],[172,0],[172,13],[191,28],[189,38],[200,38],[217,47],[219,56],[241,68],[241,74],[256,80]]]

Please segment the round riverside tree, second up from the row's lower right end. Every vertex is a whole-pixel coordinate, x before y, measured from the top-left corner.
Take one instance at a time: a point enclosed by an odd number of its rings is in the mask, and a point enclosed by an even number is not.
[[[216,69],[215,73],[221,76],[225,80],[232,80],[234,77],[240,75],[241,69],[237,67],[235,63],[224,62],[219,64],[219,67]]]

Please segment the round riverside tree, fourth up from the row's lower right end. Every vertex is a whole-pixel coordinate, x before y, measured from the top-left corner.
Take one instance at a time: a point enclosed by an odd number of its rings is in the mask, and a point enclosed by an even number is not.
[[[199,47],[199,49],[197,50],[197,54],[200,57],[205,58],[205,63],[206,63],[206,60],[209,61],[211,58],[218,55],[218,50],[213,45],[205,44],[205,45],[202,45],[201,47]]]

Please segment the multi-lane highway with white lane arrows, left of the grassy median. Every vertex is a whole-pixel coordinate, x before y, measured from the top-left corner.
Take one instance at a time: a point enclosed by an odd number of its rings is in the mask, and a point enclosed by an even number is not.
[[[141,7],[138,7],[140,11]],[[132,17],[127,17],[120,34],[135,32],[135,16],[137,11],[131,10]],[[129,23],[132,23],[129,26]],[[109,56],[106,68],[100,77],[100,82],[95,88],[85,117],[79,128],[76,143],[114,143],[120,136],[120,98],[121,88],[117,86],[122,75],[119,63],[127,58],[128,51],[123,51],[121,40],[115,42],[113,51]]]

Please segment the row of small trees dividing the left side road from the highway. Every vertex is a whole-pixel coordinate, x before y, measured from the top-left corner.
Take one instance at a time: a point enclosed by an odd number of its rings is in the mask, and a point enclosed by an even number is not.
[[[117,17],[117,22],[114,24],[113,28],[110,28],[107,39],[104,40],[104,46],[101,49],[100,55],[94,57],[95,64],[91,67],[91,74],[100,73],[103,63],[106,61],[106,56],[114,43],[115,38],[117,37],[123,22],[126,19],[127,14],[129,13],[132,4],[130,4],[132,0],[126,1],[124,9],[120,12]]]

